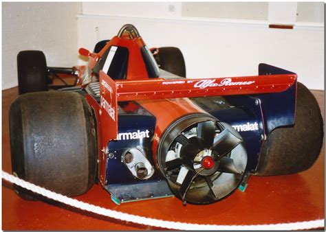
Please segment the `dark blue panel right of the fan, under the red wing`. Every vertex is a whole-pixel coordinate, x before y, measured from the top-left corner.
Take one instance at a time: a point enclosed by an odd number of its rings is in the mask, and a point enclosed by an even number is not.
[[[294,124],[296,84],[282,93],[198,97],[192,100],[240,133],[248,152],[247,170],[254,172],[263,141],[270,132]]]

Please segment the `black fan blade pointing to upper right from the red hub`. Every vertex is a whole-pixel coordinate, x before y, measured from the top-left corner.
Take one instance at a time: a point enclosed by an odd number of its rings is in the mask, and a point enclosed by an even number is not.
[[[242,139],[239,139],[233,135],[230,130],[224,129],[218,136],[217,141],[213,144],[213,150],[219,154],[219,156],[224,156],[230,152],[233,148],[241,143]]]

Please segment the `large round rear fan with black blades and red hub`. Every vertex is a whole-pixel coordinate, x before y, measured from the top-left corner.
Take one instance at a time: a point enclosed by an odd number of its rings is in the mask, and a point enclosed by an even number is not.
[[[161,156],[161,170],[184,204],[225,198],[241,183],[247,165],[241,135],[215,120],[200,121],[175,135]]]

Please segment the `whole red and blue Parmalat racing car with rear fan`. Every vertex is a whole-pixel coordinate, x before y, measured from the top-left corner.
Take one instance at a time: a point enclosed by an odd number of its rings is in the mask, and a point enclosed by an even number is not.
[[[117,203],[209,204],[250,174],[302,172],[318,157],[320,109],[291,71],[260,64],[259,76],[187,79],[180,49],[149,49],[133,25],[79,52],[89,62],[73,68],[47,67],[41,51],[17,56],[12,170],[31,183],[67,196],[99,183]]]

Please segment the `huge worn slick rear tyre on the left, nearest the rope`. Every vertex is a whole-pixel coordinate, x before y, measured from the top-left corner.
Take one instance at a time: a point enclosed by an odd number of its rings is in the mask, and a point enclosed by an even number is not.
[[[78,93],[19,96],[10,106],[10,146],[12,171],[25,181],[67,196],[84,194],[94,184],[94,118]],[[28,190],[15,189],[30,198]]]

